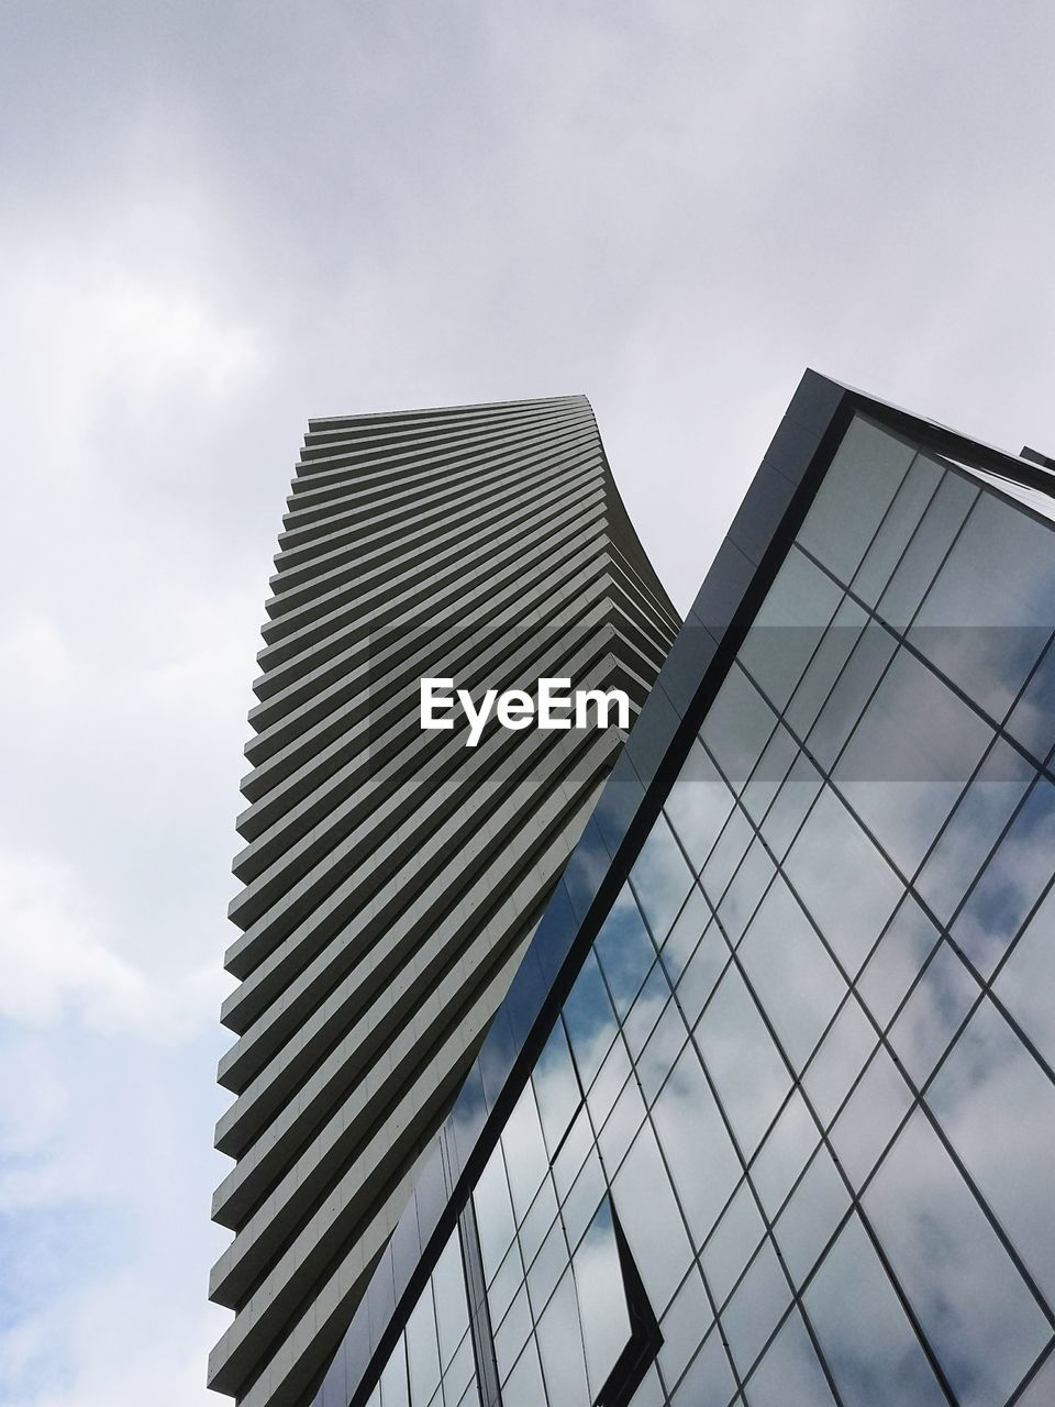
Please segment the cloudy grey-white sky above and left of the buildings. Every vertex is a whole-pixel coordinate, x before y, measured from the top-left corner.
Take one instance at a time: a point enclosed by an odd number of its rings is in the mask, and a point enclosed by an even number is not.
[[[1055,454],[1055,7],[0,6],[0,1404],[219,1403],[308,416],[585,393],[685,609],[806,366]]]

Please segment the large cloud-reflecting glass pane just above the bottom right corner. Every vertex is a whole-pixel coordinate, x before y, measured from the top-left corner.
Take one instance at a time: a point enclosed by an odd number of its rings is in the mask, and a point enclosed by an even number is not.
[[[864,1203],[954,1390],[1003,1404],[1051,1331],[923,1113]]]

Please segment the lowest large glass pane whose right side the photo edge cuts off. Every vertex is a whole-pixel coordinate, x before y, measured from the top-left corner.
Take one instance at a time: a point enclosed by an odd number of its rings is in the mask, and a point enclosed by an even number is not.
[[[1055,1303],[1055,1086],[992,1002],[971,1017],[927,1102]]]

